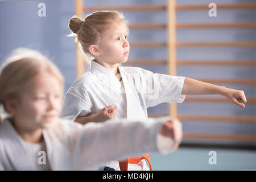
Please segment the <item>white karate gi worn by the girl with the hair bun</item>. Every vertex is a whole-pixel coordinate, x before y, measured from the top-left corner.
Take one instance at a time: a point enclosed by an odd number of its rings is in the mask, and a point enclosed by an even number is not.
[[[115,105],[116,118],[146,119],[148,107],[164,102],[181,103],[185,99],[181,94],[185,77],[154,74],[138,67],[119,66],[119,72],[124,89],[112,72],[92,61],[90,70],[69,88],[60,117],[74,121],[77,117],[95,114],[105,106]],[[107,166],[119,170],[117,161]],[[143,166],[148,169],[146,162]]]

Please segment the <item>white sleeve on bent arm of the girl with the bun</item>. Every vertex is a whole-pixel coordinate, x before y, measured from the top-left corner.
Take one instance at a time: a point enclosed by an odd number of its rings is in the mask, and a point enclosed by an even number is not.
[[[84,96],[87,95],[84,93]],[[91,108],[92,104],[89,97],[82,98],[75,93],[68,92],[64,98],[60,118],[75,121],[78,116],[89,114],[92,111]]]

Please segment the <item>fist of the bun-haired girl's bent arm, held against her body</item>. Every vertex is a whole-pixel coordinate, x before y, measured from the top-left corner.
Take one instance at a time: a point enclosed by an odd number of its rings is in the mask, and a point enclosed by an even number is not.
[[[117,106],[106,106],[99,110],[96,115],[98,122],[104,122],[108,119],[115,119],[115,115],[117,115]]]

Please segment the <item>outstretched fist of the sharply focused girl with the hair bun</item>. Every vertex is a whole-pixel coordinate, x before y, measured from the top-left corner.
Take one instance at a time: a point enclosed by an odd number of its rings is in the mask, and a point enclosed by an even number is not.
[[[225,96],[230,101],[234,102],[234,104],[236,104],[242,108],[245,108],[245,103],[247,102],[247,100],[246,100],[245,93],[243,92],[243,90],[235,90],[235,89],[226,88]]]

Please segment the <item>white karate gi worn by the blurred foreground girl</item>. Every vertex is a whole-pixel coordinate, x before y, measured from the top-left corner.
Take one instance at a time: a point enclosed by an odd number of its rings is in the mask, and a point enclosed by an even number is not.
[[[43,130],[47,158],[52,170],[95,170],[110,160],[142,155],[148,151],[172,151],[170,138],[159,139],[160,127],[170,118],[126,122],[108,121],[81,125],[56,121]],[[170,142],[170,140],[172,142]],[[0,125],[0,170],[33,170],[22,141],[5,119]]]

